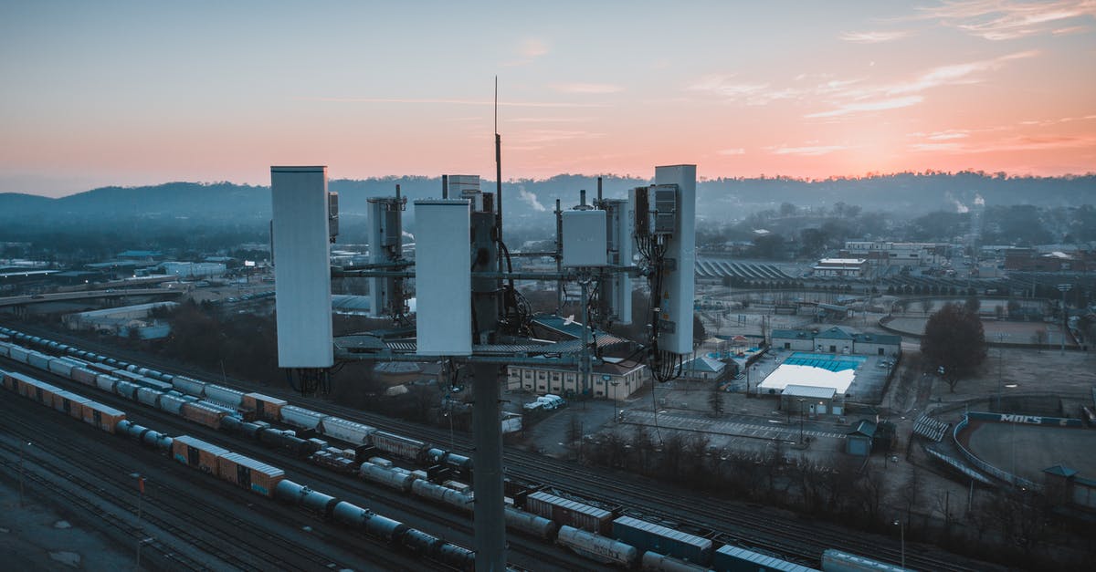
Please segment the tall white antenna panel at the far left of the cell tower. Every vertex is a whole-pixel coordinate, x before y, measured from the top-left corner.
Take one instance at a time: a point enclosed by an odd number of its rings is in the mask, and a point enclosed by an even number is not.
[[[331,367],[327,167],[272,167],[278,367]]]

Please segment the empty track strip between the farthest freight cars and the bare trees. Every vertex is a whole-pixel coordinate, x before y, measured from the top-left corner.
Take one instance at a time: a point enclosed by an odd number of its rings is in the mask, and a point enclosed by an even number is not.
[[[30,329],[24,329],[30,330]],[[72,345],[88,347],[106,355],[118,355],[116,348],[56,332],[42,330],[35,335],[44,335],[53,340],[66,341]],[[392,420],[383,415],[362,412],[344,405],[332,404],[318,398],[301,396],[277,388],[256,388],[233,379],[219,378],[197,368],[180,367],[170,362],[149,358],[140,354],[123,352],[123,357],[134,363],[155,367],[165,373],[183,374],[206,379],[226,387],[246,391],[260,391],[272,397],[288,399],[296,404],[309,409],[338,415],[343,419],[358,421],[378,428],[401,433],[436,444],[448,444],[450,439],[455,450],[468,454],[472,449],[471,441],[466,436],[452,437],[448,431],[427,427],[415,423]],[[826,548],[837,548],[855,553],[871,554],[893,562],[901,559],[898,542],[891,538],[866,537],[863,533],[852,531],[829,524],[804,524],[787,518],[764,515],[756,510],[738,503],[696,495],[694,493],[675,491],[664,483],[651,484],[642,478],[631,474],[620,474],[607,470],[576,466],[548,459],[515,449],[504,451],[506,472],[512,478],[518,478],[530,483],[551,483],[561,490],[569,491],[584,499],[598,501],[608,506],[630,506],[641,511],[649,517],[671,522],[685,520],[688,525],[710,530],[713,534],[727,536],[745,546],[766,548],[804,561],[818,562]],[[682,518],[687,515],[686,518]],[[959,557],[943,559],[933,552],[916,547],[906,546],[905,560],[909,565],[924,570],[940,570],[966,572],[980,570],[984,563],[963,563]]]

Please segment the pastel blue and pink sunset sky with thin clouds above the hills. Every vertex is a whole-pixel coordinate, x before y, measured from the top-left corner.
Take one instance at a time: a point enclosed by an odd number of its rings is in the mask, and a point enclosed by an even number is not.
[[[1096,1],[0,2],[0,192],[1096,172]]]

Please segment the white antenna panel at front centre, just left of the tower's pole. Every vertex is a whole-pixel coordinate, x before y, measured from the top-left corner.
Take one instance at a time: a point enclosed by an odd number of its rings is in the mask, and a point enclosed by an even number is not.
[[[415,201],[414,218],[416,353],[471,355],[472,255],[468,201]]]

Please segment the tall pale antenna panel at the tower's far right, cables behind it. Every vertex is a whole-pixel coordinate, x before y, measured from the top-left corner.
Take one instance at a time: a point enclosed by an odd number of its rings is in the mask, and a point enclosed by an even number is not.
[[[693,351],[693,289],[696,264],[696,165],[654,168],[657,185],[676,185],[674,232],[666,241],[659,314],[664,324],[659,347],[675,354]],[[658,202],[658,198],[655,199]],[[669,205],[667,205],[669,206]],[[660,211],[660,205],[655,208]]]

